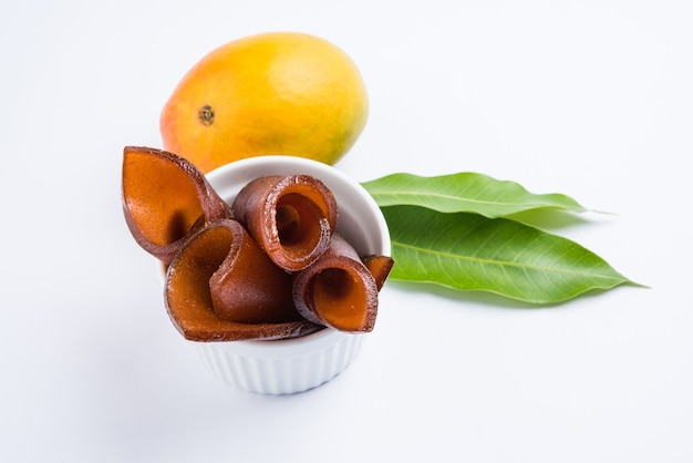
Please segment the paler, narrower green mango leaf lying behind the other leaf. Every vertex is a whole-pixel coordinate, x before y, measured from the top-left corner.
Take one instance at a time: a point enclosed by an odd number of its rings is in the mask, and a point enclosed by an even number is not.
[[[515,182],[475,173],[435,177],[400,173],[361,185],[379,206],[413,205],[442,213],[466,212],[486,217],[504,217],[542,207],[576,213],[586,210],[569,196],[558,193],[536,195]]]

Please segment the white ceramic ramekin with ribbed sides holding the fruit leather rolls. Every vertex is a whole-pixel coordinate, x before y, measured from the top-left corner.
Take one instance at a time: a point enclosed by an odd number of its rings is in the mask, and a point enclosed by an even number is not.
[[[259,156],[221,166],[207,178],[231,204],[250,181],[265,175],[308,174],[334,194],[338,230],[361,255],[390,255],[385,219],[369,193],[337,168],[296,156]],[[266,393],[302,392],[330,381],[359,354],[368,335],[323,329],[279,341],[195,342],[204,362],[226,382]]]

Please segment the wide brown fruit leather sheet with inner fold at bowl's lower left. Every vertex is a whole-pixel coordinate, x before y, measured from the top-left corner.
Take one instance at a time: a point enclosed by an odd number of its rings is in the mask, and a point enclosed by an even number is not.
[[[322,328],[291,299],[291,276],[234,219],[195,232],[166,272],[166,309],[193,341],[286,339]]]

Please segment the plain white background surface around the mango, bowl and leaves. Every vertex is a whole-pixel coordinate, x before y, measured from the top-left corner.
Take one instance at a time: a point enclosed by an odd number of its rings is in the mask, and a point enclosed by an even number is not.
[[[693,461],[691,24],[686,0],[3,2],[0,460]],[[389,282],[335,380],[223,383],[125,227],[121,156],[161,146],[198,59],[271,30],[362,71],[339,168],[566,193],[614,214],[545,225],[650,289],[529,308]]]

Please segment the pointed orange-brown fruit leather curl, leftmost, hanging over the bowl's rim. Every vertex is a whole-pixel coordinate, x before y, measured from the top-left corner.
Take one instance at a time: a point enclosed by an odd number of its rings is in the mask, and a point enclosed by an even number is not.
[[[164,264],[170,264],[195,227],[231,217],[205,176],[174,153],[126,146],[122,182],[127,227]]]

